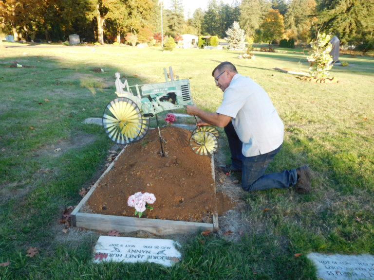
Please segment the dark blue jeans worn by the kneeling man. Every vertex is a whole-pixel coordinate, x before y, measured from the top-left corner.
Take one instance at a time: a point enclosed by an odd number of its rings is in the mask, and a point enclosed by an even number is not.
[[[239,168],[240,164],[242,166],[242,188],[244,191],[262,191],[272,188],[282,189],[296,184],[298,180],[296,169],[264,175],[267,166],[281,150],[282,145],[274,151],[263,155],[244,157],[242,154],[242,142],[239,140],[231,122],[224,128],[224,131],[227,135],[231,151],[231,165],[235,168]],[[240,144],[238,144],[238,140]],[[232,142],[230,143],[230,141]]]

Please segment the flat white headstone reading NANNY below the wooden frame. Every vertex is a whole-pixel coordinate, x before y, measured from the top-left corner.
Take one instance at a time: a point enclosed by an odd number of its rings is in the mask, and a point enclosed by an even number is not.
[[[171,266],[181,253],[170,239],[100,236],[94,247],[94,262],[154,262]]]

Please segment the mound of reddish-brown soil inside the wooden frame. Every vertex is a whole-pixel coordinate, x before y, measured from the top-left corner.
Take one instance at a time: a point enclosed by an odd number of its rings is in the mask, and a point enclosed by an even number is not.
[[[211,157],[191,150],[190,131],[174,126],[160,130],[165,157],[161,157],[158,130],[150,129],[142,140],[124,148],[91,194],[85,211],[134,217],[128,197],[151,192],[156,201],[146,217],[212,223],[217,198]]]

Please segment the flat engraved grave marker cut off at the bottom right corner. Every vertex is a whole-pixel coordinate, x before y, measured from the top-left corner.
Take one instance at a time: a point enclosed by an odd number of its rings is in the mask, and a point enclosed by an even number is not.
[[[321,280],[374,280],[374,256],[309,253]]]

